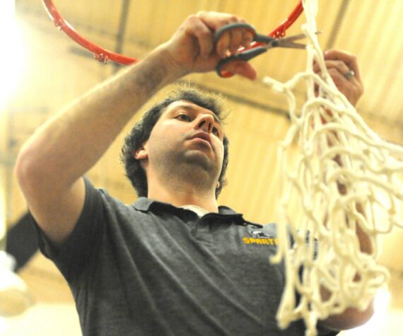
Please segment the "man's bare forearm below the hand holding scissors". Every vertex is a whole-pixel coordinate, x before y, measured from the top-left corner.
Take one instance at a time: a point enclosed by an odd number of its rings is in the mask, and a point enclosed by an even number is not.
[[[86,173],[141,105],[178,77],[163,53],[154,51],[42,126],[20,155],[33,175],[46,176],[52,188],[64,188]]]

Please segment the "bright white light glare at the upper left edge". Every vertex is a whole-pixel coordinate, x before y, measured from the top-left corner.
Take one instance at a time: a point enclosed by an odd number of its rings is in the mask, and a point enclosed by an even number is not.
[[[23,43],[14,0],[0,1],[0,108],[15,93],[23,72]]]

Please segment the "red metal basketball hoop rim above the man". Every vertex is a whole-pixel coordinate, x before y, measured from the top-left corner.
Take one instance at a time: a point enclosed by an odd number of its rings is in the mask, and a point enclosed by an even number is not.
[[[79,45],[86,48],[86,50],[93,52],[94,58],[98,59],[98,61],[103,63],[113,61],[125,65],[139,61],[139,59],[127,57],[122,54],[117,54],[115,52],[111,52],[110,50],[106,50],[103,47],[95,45],[95,43],[90,42],[90,40],[87,40],[85,37],[80,35],[66,20],[64,20],[63,16],[59,13],[59,11],[57,11],[57,8],[56,6],[54,6],[52,0],[43,0],[43,4],[45,5],[49,17],[54,22],[54,25],[56,25],[59,30],[63,30],[64,33],[69,35],[72,40],[76,41]],[[296,21],[296,19],[300,16],[302,12],[303,5],[302,1],[300,0],[296,8],[294,8],[291,14],[288,16],[288,18],[286,18],[277,28],[272,30],[271,33],[269,33],[268,35],[276,38],[284,37],[286,35],[286,30]],[[262,45],[262,43],[254,43],[252,45],[252,48],[259,47],[259,45]]]

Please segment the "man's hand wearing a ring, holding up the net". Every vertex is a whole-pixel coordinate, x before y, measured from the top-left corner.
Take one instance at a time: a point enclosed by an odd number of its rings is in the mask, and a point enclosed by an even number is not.
[[[351,105],[355,106],[364,92],[356,57],[340,50],[329,50],[325,52],[324,57],[327,71],[332,76],[337,88],[346,96]],[[346,78],[345,75],[351,70],[354,71],[354,76]],[[320,73],[318,64],[314,64],[313,71],[317,74]]]

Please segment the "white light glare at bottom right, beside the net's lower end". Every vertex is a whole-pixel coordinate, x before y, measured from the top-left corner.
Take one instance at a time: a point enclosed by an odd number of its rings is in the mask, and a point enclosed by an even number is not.
[[[387,289],[380,289],[374,300],[374,314],[368,322],[361,327],[346,330],[343,336],[368,336],[384,335],[387,307],[389,306],[390,293]],[[383,330],[383,331],[382,331]]]

